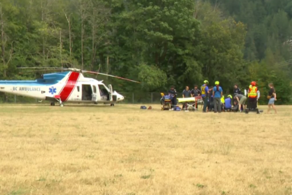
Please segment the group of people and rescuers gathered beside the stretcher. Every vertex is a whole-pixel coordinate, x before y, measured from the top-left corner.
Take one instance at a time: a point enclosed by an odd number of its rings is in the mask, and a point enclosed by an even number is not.
[[[270,88],[267,96],[268,113],[270,112],[270,109],[273,108],[275,110],[275,114],[277,114],[277,109],[275,108],[275,100],[277,100],[275,88],[272,83],[268,84],[268,86]],[[175,87],[172,86],[168,93],[173,96],[172,105],[177,105],[177,91],[175,90]],[[188,86],[186,86],[186,89],[183,91],[183,98],[197,96],[201,96],[204,102],[204,107],[202,110],[203,112],[213,110],[214,113],[220,113],[226,109],[231,110],[232,100],[234,100],[234,106],[236,106],[237,110],[241,112],[244,109],[247,109],[246,103],[248,103],[249,110],[257,109],[259,90],[257,88],[257,83],[252,81],[248,90],[245,90],[245,94],[243,94],[241,89],[238,88],[238,85],[236,84],[234,85],[234,98],[232,98],[232,95],[228,95],[227,99],[225,99],[219,81],[215,82],[215,86],[211,86],[209,88],[209,81],[205,80],[200,89],[197,87],[197,85],[195,85],[195,87],[190,91]]]

